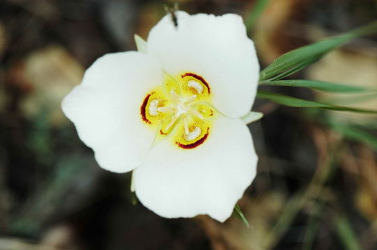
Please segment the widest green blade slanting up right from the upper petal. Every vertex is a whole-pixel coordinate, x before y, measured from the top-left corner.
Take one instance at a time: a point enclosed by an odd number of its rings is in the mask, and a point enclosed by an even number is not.
[[[299,65],[302,62],[307,60],[318,60],[326,53],[340,47],[341,45],[349,42],[353,38],[357,38],[362,35],[369,35],[377,32],[377,22],[372,22],[360,28],[356,28],[353,31],[344,33],[342,35],[337,35],[332,38],[327,38],[321,40],[314,44],[309,44],[304,47],[300,47],[288,53],[284,53],[282,56],[279,56],[274,62],[272,62],[266,69],[260,74],[260,81],[268,80],[277,74],[282,74],[288,69]]]

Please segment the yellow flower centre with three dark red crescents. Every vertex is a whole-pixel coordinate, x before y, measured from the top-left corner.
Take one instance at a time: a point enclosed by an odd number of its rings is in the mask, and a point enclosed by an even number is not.
[[[210,119],[214,110],[210,101],[210,87],[203,77],[185,73],[164,78],[163,87],[148,93],[141,104],[141,119],[159,129],[160,135],[172,136],[182,149],[198,147],[208,138]]]

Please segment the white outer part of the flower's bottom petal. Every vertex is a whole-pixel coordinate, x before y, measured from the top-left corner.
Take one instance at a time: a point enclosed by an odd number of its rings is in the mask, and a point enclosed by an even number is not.
[[[163,217],[208,214],[224,222],[252,183],[257,160],[247,126],[222,117],[197,148],[180,149],[170,140],[153,147],[134,170],[134,188],[141,203]]]

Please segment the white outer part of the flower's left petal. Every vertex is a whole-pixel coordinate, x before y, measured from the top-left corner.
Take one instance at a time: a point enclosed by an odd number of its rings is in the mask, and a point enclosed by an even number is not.
[[[142,121],[140,106],[161,83],[160,64],[151,56],[111,53],[96,60],[63,100],[63,112],[100,167],[128,172],[142,163],[155,131]]]

